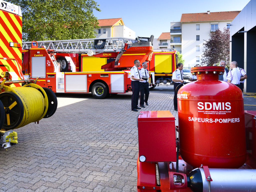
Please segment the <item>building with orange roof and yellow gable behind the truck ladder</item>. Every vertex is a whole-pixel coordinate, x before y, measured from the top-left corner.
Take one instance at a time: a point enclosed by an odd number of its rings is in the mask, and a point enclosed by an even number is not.
[[[135,32],[124,25],[122,18],[98,19],[96,38],[125,37],[135,39]]]

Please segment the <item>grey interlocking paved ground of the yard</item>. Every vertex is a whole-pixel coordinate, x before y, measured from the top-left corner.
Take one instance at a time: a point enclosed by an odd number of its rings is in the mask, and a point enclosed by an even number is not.
[[[150,93],[139,111],[170,110],[177,119],[173,96]],[[16,129],[19,143],[0,148],[0,191],[136,191],[139,112],[131,93],[57,97],[52,117]]]

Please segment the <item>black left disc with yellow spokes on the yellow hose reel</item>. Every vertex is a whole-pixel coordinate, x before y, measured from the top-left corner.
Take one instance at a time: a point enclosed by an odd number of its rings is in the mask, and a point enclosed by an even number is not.
[[[21,99],[15,93],[5,91],[0,94],[0,100],[5,107],[3,128],[5,130],[15,129],[24,116],[24,106]]]

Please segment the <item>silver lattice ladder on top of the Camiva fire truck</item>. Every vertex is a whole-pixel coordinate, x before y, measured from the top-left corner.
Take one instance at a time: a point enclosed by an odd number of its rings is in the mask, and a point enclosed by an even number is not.
[[[96,39],[72,39],[56,41],[37,41],[38,48],[52,49],[54,52],[89,53],[121,51],[125,44],[133,44],[134,39],[123,37],[96,38]],[[30,49],[31,42],[23,42],[22,49]]]

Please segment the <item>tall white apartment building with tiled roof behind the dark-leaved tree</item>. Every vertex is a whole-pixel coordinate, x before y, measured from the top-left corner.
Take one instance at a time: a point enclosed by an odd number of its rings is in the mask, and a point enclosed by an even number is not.
[[[170,23],[170,46],[181,50],[184,66],[194,67],[201,63],[203,43],[216,29],[230,28],[232,20],[240,11],[186,13],[180,22]]]

